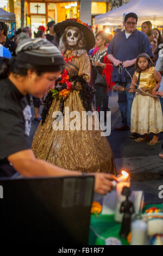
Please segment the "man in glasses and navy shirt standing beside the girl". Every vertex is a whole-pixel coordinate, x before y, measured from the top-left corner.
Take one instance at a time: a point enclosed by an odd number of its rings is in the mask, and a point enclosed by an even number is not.
[[[116,34],[108,46],[108,59],[114,64],[112,80],[118,86],[129,88],[131,77],[134,75],[134,64],[140,53],[147,53],[153,57],[148,36],[136,29],[137,15],[128,13],[124,18],[124,31]],[[119,65],[123,69],[119,68]],[[127,72],[127,71],[128,72]],[[130,76],[129,76],[129,74]],[[121,111],[122,125],[114,131],[130,130],[131,105],[134,99],[133,93],[118,92],[118,105]],[[131,135],[135,138],[136,135]]]

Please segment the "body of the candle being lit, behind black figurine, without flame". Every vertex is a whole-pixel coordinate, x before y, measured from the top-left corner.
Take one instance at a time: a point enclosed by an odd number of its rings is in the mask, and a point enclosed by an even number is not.
[[[120,208],[123,201],[126,200],[125,196],[122,196],[123,187],[129,187],[130,182],[119,182],[117,183],[117,197],[116,197],[116,206],[115,206],[115,215],[114,220],[116,222],[122,222],[123,214],[120,214]]]

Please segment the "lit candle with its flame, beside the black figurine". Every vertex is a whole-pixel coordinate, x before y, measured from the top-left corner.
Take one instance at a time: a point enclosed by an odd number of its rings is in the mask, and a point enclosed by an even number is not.
[[[122,175],[118,177],[118,182],[116,182],[117,197],[114,215],[114,219],[116,222],[122,222],[123,218],[123,214],[120,213],[121,204],[124,200],[126,200],[126,197],[122,196],[123,187],[130,187],[129,174],[124,170],[122,170]]]

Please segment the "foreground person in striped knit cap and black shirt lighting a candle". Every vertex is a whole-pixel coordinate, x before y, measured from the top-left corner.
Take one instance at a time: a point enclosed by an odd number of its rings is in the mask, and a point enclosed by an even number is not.
[[[31,118],[28,94],[42,97],[54,89],[65,64],[61,52],[51,42],[36,38],[22,40],[16,53],[17,57],[10,61],[3,59],[0,66],[0,174],[9,175],[13,167],[25,177],[82,175],[36,159],[28,142]],[[111,180],[116,180],[115,176],[90,175],[95,176],[96,192],[106,194],[112,190]]]

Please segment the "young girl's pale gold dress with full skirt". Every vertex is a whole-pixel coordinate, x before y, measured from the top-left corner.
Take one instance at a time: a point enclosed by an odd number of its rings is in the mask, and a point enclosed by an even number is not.
[[[139,88],[148,87],[150,90],[156,85],[153,77],[155,68],[151,67],[147,72],[141,72]],[[138,79],[139,72],[135,72]],[[150,132],[162,131],[163,118],[160,100],[148,95],[136,93],[131,108],[131,132],[144,135]]]

